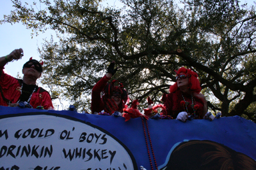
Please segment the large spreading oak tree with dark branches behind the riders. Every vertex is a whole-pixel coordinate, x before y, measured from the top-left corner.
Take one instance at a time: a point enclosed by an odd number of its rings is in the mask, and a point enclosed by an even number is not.
[[[198,73],[209,109],[256,120],[254,6],[237,0],[121,0],[119,8],[100,0],[12,1],[16,10],[1,24],[58,33],[58,41],[40,49],[43,83],[79,110],[90,108],[93,85],[115,60],[114,78],[141,108],[148,96],[161,102],[174,70],[184,66]]]

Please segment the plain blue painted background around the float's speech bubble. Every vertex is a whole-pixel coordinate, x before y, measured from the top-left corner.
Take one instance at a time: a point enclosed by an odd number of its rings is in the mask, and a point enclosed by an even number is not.
[[[2,119],[38,114],[65,117],[74,121],[81,120],[86,124],[96,125],[127,146],[136,160],[138,169],[140,166],[151,169],[141,118],[132,118],[125,122],[123,117],[0,106],[0,118]],[[238,116],[221,117],[213,121],[188,120],[185,123],[179,120],[148,120],[147,124],[157,166],[160,167],[168,159],[173,146],[188,140],[214,141],[256,160],[256,124]],[[0,128],[4,129],[1,125]]]

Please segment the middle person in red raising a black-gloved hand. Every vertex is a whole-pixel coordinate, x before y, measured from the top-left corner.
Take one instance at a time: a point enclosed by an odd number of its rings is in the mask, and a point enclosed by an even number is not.
[[[124,89],[122,83],[120,86],[115,86],[116,80],[111,83],[108,81],[116,73],[115,61],[111,62],[108,67],[108,71],[105,76],[103,76],[100,81],[92,89],[92,113],[98,114],[101,111],[105,111],[112,115],[115,111],[123,113],[125,108],[125,103],[128,100],[128,94]],[[102,93],[102,96],[100,95]]]

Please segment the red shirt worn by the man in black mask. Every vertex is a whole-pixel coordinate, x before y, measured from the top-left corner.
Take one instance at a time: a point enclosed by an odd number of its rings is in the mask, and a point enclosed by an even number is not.
[[[3,67],[0,68],[0,85],[3,94],[0,95],[0,105],[8,106],[8,103],[4,101],[3,96],[10,100],[10,103],[17,103],[20,98],[20,87],[22,85],[22,80],[13,78],[3,71]],[[52,101],[50,94],[44,90],[42,87],[37,87],[36,91],[31,96],[30,102],[33,108],[37,106],[44,106],[44,109],[47,110],[49,107],[52,107]]]

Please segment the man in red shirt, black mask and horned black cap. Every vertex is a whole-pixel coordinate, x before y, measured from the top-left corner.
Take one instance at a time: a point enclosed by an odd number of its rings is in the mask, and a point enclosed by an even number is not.
[[[53,108],[49,92],[36,85],[36,80],[42,74],[42,63],[33,60],[32,57],[23,66],[23,79],[17,79],[4,73],[5,64],[13,60],[19,60],[23,56],[22,48],[13,50],[9,55],[0,57],[0,105],[18,106],[20,102],[26,102],[33,108],[44,107],[45,110]]]

